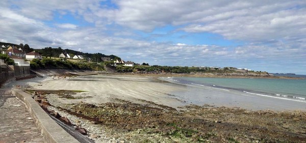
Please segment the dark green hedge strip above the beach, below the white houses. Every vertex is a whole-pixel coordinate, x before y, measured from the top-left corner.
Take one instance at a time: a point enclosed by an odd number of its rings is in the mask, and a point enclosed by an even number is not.
[[[43,68],[59,68],[59,69],[80,69],[80,70],[94,70],[101,71],[104,70],[104,64],[93,64],[93,63],[75,63],[70,61],[62,61],[60,59],[47,59],[42,60],[33,59],[30,63],[33,69],[43,69]]]

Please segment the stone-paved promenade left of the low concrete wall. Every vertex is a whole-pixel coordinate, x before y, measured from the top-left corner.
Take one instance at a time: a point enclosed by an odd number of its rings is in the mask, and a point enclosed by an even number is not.
[[[0,143],[4,142],[44,142],[27,107],[9,88],[0,89]]]

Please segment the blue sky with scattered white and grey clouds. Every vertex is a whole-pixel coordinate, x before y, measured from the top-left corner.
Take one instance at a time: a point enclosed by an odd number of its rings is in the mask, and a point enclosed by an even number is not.
[[[0,1],[0,41],[162,66],[306,74],[306,1]]]

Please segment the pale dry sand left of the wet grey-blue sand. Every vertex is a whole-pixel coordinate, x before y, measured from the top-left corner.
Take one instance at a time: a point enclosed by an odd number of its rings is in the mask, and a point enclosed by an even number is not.
[[[101,104],[114,102],[116,99],[132,101],[134,103],[146,103],[151,101],[156,104],[171,107],[184,106],[180,99],[170,96],[169,93],[179,90],[182,85],[172,83],[160,83],[152,77],[120,76],[120,75],[89,75],[79,77],[59,78],[52,76],[40,79],[28,79],[25,83],[33,89],[39,90],[78,90],[84,91],[73,95],[74,97],[89,97],[85,99],[66,100],[59,99],[63,103]],[[23,84],[24,84],[23,82]],[[19,84],[15,83],[15,84]],[[22,84],[22,83],[21,83]]]

